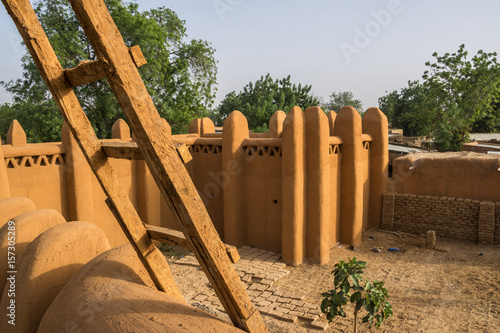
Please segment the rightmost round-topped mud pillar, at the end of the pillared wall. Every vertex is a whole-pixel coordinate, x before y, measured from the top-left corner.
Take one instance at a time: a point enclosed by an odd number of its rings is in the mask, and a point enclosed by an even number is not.
[[[382,196],[387,191],[389,178],[389,125],[387,117],[378,108],[369,108],[363,115],[363,133],[372,136],[368,226],[380,228]]]

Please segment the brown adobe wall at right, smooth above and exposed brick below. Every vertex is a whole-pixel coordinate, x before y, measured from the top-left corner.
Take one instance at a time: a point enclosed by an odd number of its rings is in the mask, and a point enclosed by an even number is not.
[[[410,154],[394,161],[383,196],[382,229],[435,230],[480,244],[500,243],[500,159],[471,152]]]

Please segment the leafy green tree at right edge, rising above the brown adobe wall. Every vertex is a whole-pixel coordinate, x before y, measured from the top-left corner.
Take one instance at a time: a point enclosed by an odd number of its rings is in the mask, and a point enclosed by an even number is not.
[[[497,54],[478,53],[467,59],[465,46],[456,53],[427,62],[423,75],[429,98],[437,107],[436,141],[442,150],[460,150],[474,123],[490,117],[500,93],[500,64]]]

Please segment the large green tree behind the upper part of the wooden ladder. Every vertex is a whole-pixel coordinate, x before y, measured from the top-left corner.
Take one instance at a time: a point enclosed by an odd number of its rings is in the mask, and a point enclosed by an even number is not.
[[[148,63],[139,72],[159,114],[167,119],[172,131],[186,131],[193,118],[207,115],[215,96],[217,72],[215,50],[210,44],[188,40],[185,22],[170,9],[160,7],[141,12],[137,3],[123,0],[105,0],[105,3],[125,44],[141,47]],[[64,68],[96,59],[67,1],[38,1],[35,11]],[[13,103],[1,109],[0,117],[5,117],[3,111],[9,110],[9,119],[20,121],[30,142],[59,140],[62,123],[59,110],[29,54],[22,58],[22,63],[23,78],[1,82],[13,94]],[[123,115],[107,81],[77,87],[75,91],[97,135],[109,137],[112,124]],[[29,121],[31,117],[43,121]]]

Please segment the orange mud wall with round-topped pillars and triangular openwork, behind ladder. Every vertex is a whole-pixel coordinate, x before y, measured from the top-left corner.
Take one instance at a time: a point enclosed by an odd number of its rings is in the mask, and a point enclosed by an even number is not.
[[[0,167],[0,194],[30,198],[38,209],[53,208],[69,221],[94,223],[111,246],[127,242],[66,126],[61,143],[43,144],[27,144],[17,122],[11,129],[1,149],[6,168],[2,176]],[[204,118],[172,139],[189,148],[193,159],[186,168],[224,242],[281,252],[286,263],[299,265],[306,259],[328,263],[332,245],[357,246],[364,229],[380,226],[387,133],[378,109],[362,121],[350,107],[338,114],[295,107],[288,115],[276,112],[269,133],[251,133],[235,111],[223,133]],[[123,120],[112,137],[133,140]],[[145,223],[179,229],[144,161],[112,165]]]

